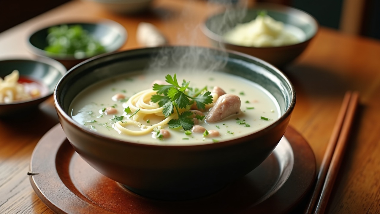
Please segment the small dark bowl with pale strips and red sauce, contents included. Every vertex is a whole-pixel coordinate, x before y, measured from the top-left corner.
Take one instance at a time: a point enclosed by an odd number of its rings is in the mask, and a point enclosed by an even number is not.
[[[48,58],[0,60],[0,117],[37,107],[65,72],[61,63]]]

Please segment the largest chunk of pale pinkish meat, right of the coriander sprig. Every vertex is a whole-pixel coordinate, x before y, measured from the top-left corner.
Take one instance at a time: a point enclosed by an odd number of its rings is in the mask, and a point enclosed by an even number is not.
[[[239,96],[234,94],[224,94],[218,98],[214,107],[207,114],[207,122],[217,122],[224,118],[240,112],[241,101]]]

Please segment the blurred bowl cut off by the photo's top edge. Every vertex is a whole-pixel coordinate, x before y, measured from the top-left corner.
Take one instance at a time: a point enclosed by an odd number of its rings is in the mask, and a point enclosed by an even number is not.
[[[108,11],[119,14],[135,14],[149,8],[153,0],[89,0]]]

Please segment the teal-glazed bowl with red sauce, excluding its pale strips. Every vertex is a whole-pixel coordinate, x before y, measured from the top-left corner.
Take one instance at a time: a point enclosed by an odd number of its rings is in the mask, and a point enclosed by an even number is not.
[[[40,95],[33,99],[15,101],[9,104],[0,104],[0,117],[12,116],[16,113],[35,108],[53,94],[58,80],[67,71],[59,62],[40,58],[31,59],[8,59],[0,61],[0,77],[4,78],[13,70],[18,70],[20,80],[24,83],[32,83],[40,91]]]

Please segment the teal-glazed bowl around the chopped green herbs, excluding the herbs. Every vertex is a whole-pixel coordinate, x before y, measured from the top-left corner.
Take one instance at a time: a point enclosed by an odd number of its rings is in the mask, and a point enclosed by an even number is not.
[[[119,50],[127,40],[127,31],[119,23],[107,19],[103,19],[98,22],[65,22],[52,26],[46,26],[43,29],[36,30],[28,38],[29,50],[38,55],[44,57],[50,57],[61,62],[67,69],[70,69],[74,65],[82,62],[90,56],[78,56],[74,54],[57,54],[51,53],[45,50],[49,45],[47,41],[47,35],[51,27],[67,25],[68,27],[79,25],[83,31],[88,32],[90,36],[95,38],[104,48],[105,53],[111,53]]]

